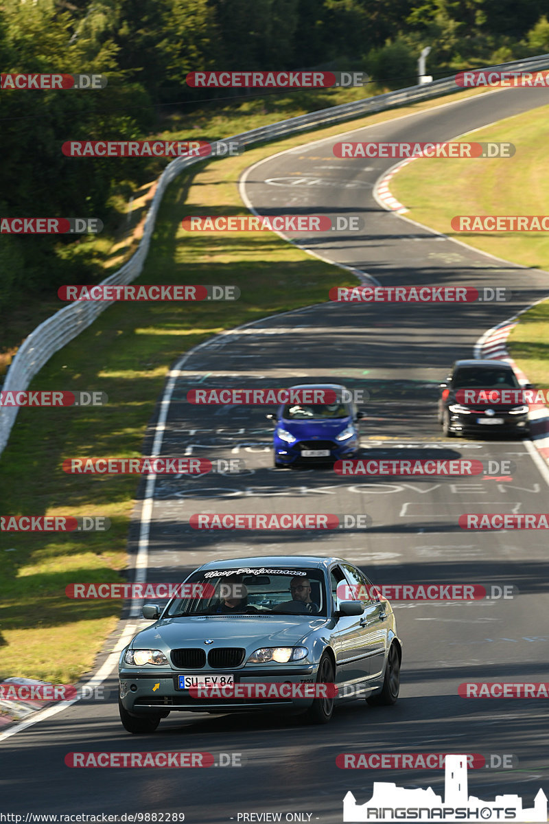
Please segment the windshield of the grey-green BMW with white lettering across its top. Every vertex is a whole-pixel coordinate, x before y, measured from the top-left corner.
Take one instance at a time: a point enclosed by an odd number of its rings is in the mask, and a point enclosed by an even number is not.
[[[295,615],[326,616],[320,569],[203,570],[186,584],[200,584],[196,597],[174,598],[164,617]],[[207,586],[206,586],[207,585]]]

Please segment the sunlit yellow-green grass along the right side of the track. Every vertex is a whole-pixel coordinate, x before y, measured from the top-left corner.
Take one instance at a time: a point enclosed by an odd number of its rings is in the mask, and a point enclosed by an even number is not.
[[[393,177],[391,191],[412,220],[504,260],[549,269],[547,232],[465,233],[451,227],[455,215],[549,213],[548,114],[549,106],[542,106],[468,134],[468,140],[513,143],[513,157],[419,159]],[[549,301],[520,316],[508,349],[531,382],[549,386]]]

